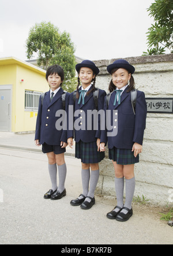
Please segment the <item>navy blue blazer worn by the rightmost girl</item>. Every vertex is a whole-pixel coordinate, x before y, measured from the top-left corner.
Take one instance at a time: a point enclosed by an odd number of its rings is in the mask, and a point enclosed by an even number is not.
[[[137,91],[136,114],[133,113],[131,105],[131,95],[127,92],[128,87],[121,95],[121,103],[114,106],[116,92],[112,92],[108,110],[111,110],[111,125],[113,129],[117,129],[116,136],[107,137],[107,129],[101,131],[100,143],[108,142],[108,148],[116,147],[118,149],[132,149],[134,142],[142,145],[144,137],[144,129],[146,125],[146,101],[145,94],[142,91]],[[106,99],[104,101],[104,110],[106,111]],[[112,110],[118,110],[118,114],[113,115]],[[114,123],[113,123],[114,121]],[[113,131],[112,129],[112,131]]]

